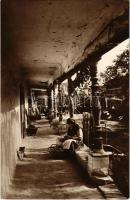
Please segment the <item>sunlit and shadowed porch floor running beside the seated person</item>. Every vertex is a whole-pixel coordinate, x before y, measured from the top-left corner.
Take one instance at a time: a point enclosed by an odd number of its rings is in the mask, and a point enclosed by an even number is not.
[[[54,160],[47,148],[57,135],[45,121],[37,123],[36,136],[24,139],[26,157],[18,161],[9,199],[104,199],[99,190],[84,180],[70,160]]]

